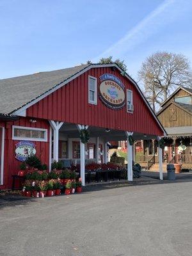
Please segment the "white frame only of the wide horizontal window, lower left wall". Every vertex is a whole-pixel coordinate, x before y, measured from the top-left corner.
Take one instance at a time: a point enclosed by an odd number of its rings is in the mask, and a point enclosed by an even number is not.
[[[45,132],[45,138],[17,137],[17,136],[14,135],[15,129],[23,129],[23,130],[31,130],[31,131],[43,131],[43,132]],[[47,129],[12,125],[12,140],[28,140],[28,141],[47,142]]]

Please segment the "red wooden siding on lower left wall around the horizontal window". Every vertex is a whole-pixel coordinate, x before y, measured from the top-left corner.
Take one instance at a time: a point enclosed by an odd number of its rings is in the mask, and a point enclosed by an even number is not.
[[[12,140],[12,125],[36,127],[47,129],[47,142],[33,141],[36,145],[36,156],[40,157],[42,163],[49,167],[49,123],[45,120],[37,120],[37,122],[29,122],[29,118],[20,118],[19,121],[6,122],[5,124],[5,140],[4,140],[4,180],[3,188],[11,188],[12,175],[17,174],[20,166],[20,161],[15,158],[15,144],[19,140]],[[1,126],[1,124],[0,124]]]

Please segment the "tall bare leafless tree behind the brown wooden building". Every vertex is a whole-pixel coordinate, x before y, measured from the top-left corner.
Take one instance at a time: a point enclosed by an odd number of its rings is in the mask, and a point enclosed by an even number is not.
[[[138,76],[154,111],[177,87],[191,87],[189,61],[182,54],[156,52],[142,63]]]

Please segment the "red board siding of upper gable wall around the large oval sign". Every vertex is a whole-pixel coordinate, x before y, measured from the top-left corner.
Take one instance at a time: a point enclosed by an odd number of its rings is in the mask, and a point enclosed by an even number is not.
[[[98,91],[102,74],[120,78],[126,89],[133,92],[134,113],[127,113],[126,106],[119,110],[107,108],[98,98],[97,105],[88,104],[88,75],[97,77]],[[163,135],[163,131],[148,110],[145,102],[126,77],[109,67],[92,68],[66,86],[40,100],[27,110],[28,116],[58,120],[73,124],[85,124],[122,131]]]

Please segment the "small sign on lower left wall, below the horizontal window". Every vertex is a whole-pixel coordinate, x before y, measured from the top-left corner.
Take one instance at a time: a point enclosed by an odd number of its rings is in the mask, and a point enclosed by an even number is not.
[[[20,141],[15,145],[15,158],[19,161],[25,161],[31,154],[36,154],[35,144],[31,141]]]

